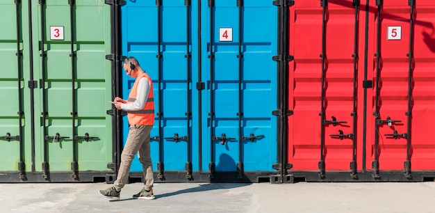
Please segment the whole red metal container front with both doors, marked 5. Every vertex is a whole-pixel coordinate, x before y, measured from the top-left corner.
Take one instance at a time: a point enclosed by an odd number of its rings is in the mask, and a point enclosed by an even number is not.
[[[409,1],[384,0],[379,42],[377,2],[365,3],[330,0],[325,15],[319,0],[290,6],[290,172],[351,172],[352,164],[373,173],[405,171],[407,160],[412,170],[435,169],[435,2],[420,0],[412,7],[410,34]]]

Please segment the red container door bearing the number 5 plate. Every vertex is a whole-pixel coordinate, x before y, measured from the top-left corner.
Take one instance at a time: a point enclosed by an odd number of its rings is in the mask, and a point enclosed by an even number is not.
[[[375,89],[367,164],[374,178],[381,178],[379,171],[404,171],[412,178],[411,170],[435,169],[432,128],[427,125],[435,116],[435,4],[383,1],[370,8],[375,17],[370,34]]]

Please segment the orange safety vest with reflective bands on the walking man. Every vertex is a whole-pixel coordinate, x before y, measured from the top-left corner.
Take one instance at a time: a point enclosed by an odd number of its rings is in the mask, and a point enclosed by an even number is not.
[[[140,110],[127,111],[127,117],[129,118],[130,125],[152,126],[154,125],[154,93],[151,78],[147,73],[143,72],[138,76],[136,81],[134,81],[133,88],[131,88],[127,103],[132,103],[136,101],[136,97],[138,95],[138,84],[140,79],[142,79],[143,77],[147,78],[149,84],[151,84],[147,102],[145,103],[145,107]]]

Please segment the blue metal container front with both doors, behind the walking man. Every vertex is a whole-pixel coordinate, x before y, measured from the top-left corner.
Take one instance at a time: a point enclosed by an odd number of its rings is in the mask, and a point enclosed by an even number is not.
[[[188,161],[193,172],[274,171],[277,7],[265,0],[209,2],[122,6],[122,54],[138,58],[154,82],[154,171],[159,162],[164,171],[185,171]],[[123,75],[124,97],[133,82]],[[125,116],[123,128],[125,141]],[[138,159],[131,171],[142,171]]]

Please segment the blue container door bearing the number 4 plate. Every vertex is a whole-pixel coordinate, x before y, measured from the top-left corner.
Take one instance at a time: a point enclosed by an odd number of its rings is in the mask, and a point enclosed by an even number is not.
[[[238,178],[273,171],[277,8],[270,1],[208,1],[202,15],[202,169],[211,178],[215,171],[238,171]]]

